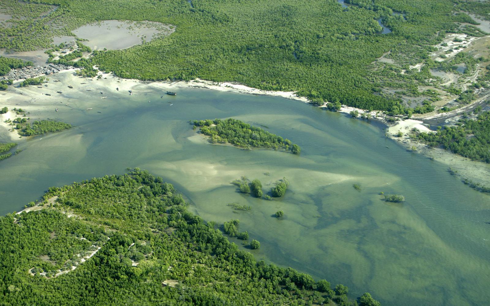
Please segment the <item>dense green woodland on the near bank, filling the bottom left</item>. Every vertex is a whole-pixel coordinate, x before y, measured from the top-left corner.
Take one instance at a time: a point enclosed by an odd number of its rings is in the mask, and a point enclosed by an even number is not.
[[[0,217],[5,305],[353,305],[239,250],[146,171],[49,188],[37,204]]]

